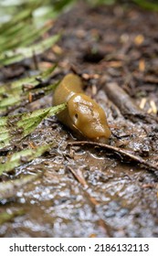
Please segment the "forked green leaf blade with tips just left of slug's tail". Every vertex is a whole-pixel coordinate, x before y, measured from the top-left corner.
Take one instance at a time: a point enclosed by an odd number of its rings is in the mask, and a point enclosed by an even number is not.
[[[53,91],[58,83],[43,87],[42,83],[45,84],[51,78],[56,67],[57,65],[31,78],[16,80],[13,83],[2,85],[0,87],[0,114],[6,114],[17,107],[26,105],[30,101],[30,96],[32,102]],[[39,84],[40,88],[36,89]]]

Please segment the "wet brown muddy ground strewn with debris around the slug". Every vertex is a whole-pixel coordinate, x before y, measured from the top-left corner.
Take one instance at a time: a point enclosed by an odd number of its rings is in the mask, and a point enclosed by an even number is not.
[[[158,237],[157,24],[157,13],[122,5],[78,4],[58,18],[50,32],[62,31],[58,47],[38,65],[58,61],[52,80],[82,77],[107,113],[109,147],[81,144],[56,117],[41,123],[21,147],[56,146],[16,168],[13,178],[43,175],[1,201],[1,210],[24,214],[2,224],[0,237]],[[26,63],[3,69],[1,80],[15,69],[25,73]],[[20,111],[50,104],[51,95]]]

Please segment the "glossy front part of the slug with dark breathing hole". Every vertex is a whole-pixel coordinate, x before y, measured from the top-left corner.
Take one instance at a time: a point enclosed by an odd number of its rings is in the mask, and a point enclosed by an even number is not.
[[[90,139],[108,139],[111,130],[100,105],[89,96],[78,93],[68,101],[68,115],[71,127]]]

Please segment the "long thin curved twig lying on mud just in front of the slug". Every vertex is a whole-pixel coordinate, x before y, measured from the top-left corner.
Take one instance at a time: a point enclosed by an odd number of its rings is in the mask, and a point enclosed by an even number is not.
[[[68,145],[94,145],[94,146],[98,146],[101,147],[103,149],[109,150],[114,154],[120,154],[122,156],[128,157],[130,158],[132,161],[138,163],[139,165],[143,165],[143,167],[149,169],[150,171],[158,171],[158,166],[157,165],[153,165],[150,162],[147,162],[146,160],[144,160],[141,156],[136,156],[136,155],[132,155],[131,153],[122,150],[119,147],[116,146],[112,146],[109,144],[100,144],[100,143],[95,143],[95,142],[88,142],[88,141],[81,141],[81,142],[72,142],[72,143],[68,143]]]

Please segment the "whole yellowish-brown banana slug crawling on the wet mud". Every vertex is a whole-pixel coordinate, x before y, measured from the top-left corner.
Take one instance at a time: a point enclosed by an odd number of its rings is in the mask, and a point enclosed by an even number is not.
[[[67,108],[58,114],[58,120],[71,130],[91,140],[108,139],[111,130],[105,112],[82,90],[79,76],[69,73],[58,84],[53,94],[53,104],[67,102]]]

